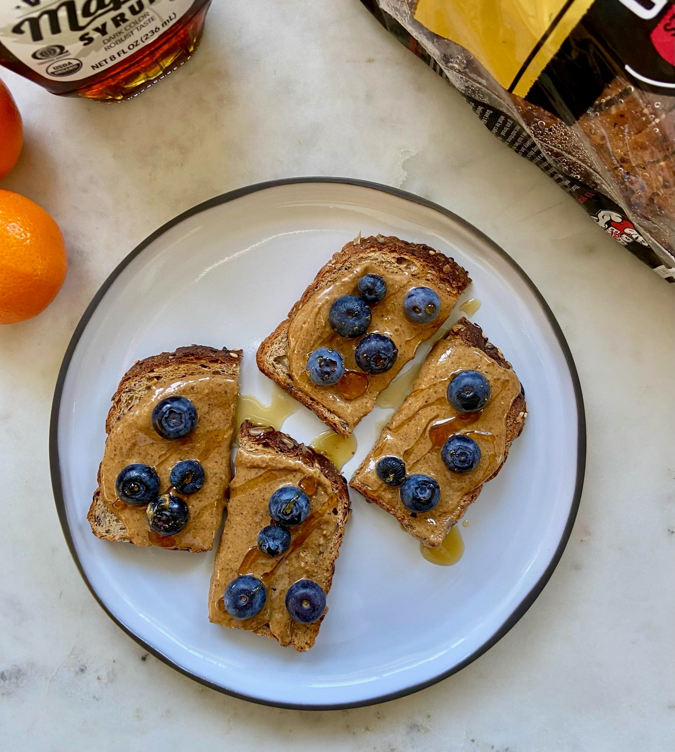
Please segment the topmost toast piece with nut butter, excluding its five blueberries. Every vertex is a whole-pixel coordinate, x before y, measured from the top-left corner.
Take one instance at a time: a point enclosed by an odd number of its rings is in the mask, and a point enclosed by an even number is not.
[[[354,358],[360,338],[347,340],[335,334],[328,324],[328,310],[339,296],[358,295],[359,278],[371,273],[386,280],[387,294],[371,306],[368,333],[391,337],[398,357],[389,371],[366,377]],[[373,409],[380,392],[415,356],[419,344],[440,328],[470,282],[464,268],[428,245],[359,235],[319,270],[288,318],[262,341],[256,354],[258,368],[335,432],[349,436]],[[405,316],[403,300],[413,287],[431,287],[440,296],[440,313],[431,323],[413,323]],[[347,374],[333,387],[316,386],[305,372],[307,356],[322,346],[340,350],[347,367]],[[348,378],[352,379],[349,388],[345,387]]]

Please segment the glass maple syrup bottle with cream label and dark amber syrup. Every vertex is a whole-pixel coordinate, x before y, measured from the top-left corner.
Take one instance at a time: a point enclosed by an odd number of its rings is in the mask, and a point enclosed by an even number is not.
[[[0,63],[53,94],[122,102],[195,52],[210,0],[0,0]]]

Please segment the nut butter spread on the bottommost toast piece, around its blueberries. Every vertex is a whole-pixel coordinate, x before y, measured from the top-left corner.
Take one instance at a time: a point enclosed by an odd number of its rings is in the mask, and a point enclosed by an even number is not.
[[[288,550],[272,558],[259,551],[256,540],[260,530],[271,523],[270,496],[282,486],[301,487],[310,498],[310,514],[303,523],[289,528],[292,539]],[[331,544],[338,535],[336,502],[330,481],[318,468],[262,447],[256,450],[240,447],[235,457],[235,477],[230,484],[227,522],[211,578],[210,620],[240,629],[268,625],[283,645],[291,642],[294,630],[312,627],[291,619],[286,611],[286,591],[303,578],[328,591],[327,577],[332,572],[334,557]],[[249,619],[230,616],[222,602],[226,587],[239,575],[258,578],[267,593],[262,611]]]

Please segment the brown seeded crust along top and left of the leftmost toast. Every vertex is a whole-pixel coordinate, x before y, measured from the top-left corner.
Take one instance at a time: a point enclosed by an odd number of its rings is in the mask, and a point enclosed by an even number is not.
[[[113,404],[105,420],[106,434],[112,431],[115,423],[140,402],[158,381],[186,378],[205,372],[225,374],[238,379],[242,356],[242,350],[216,350],[215,347],[192,344],[189,347],[178,347],[173,353],[159,353],[137,360],[124,374],[117,392],[113,395]],[[108,509],[101,499],[101,465],[98,465],[96,481],[98,488],[94,492],[89,514],[86,516],[93,534],[107,541],[130,543],[123,520]]]

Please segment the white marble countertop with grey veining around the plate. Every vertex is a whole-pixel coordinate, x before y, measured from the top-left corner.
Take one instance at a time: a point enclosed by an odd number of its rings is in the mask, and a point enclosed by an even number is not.
[[[0,186],[55,217],[70,262],[44,314],[0,327],[0,749],[673,750],[675,286],[357,0],[215,3],[195,58],[124,105],[0,74],[26,136]],[[120,259],[204,199],[298,175],[401,187],[504,247],[565,332],[588,421],[577,523],[522,620],[459,674],[350,711],[253,705],[144,653],[77,574],[47,456],[65,347]]]

